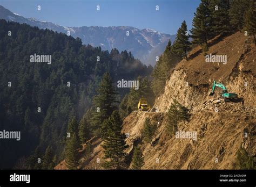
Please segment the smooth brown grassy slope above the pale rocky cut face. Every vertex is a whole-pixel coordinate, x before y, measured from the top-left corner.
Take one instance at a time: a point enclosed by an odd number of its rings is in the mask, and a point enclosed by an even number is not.
[[[255,75],[255,46],[246,44],[248,39],[244,33],[237,32],[224,39],[214,38],[209,41],[210,48],[207,54],[227,55],[227,63],[205,62],[205,55],[200,46],[192,49],[189,53],[189,60],[182,60],[178,63],[177,69],[186,71],[186,81],[193,85],[208,84],[210,80],[226,81],[233,68],[237,66],[242,54],[248,53],[248,48],[252,49],[247,58],[245,70],[251,70]],[[242,59],[240,59],[242,60]],[[250,64],[250,65],[249,65]]]

